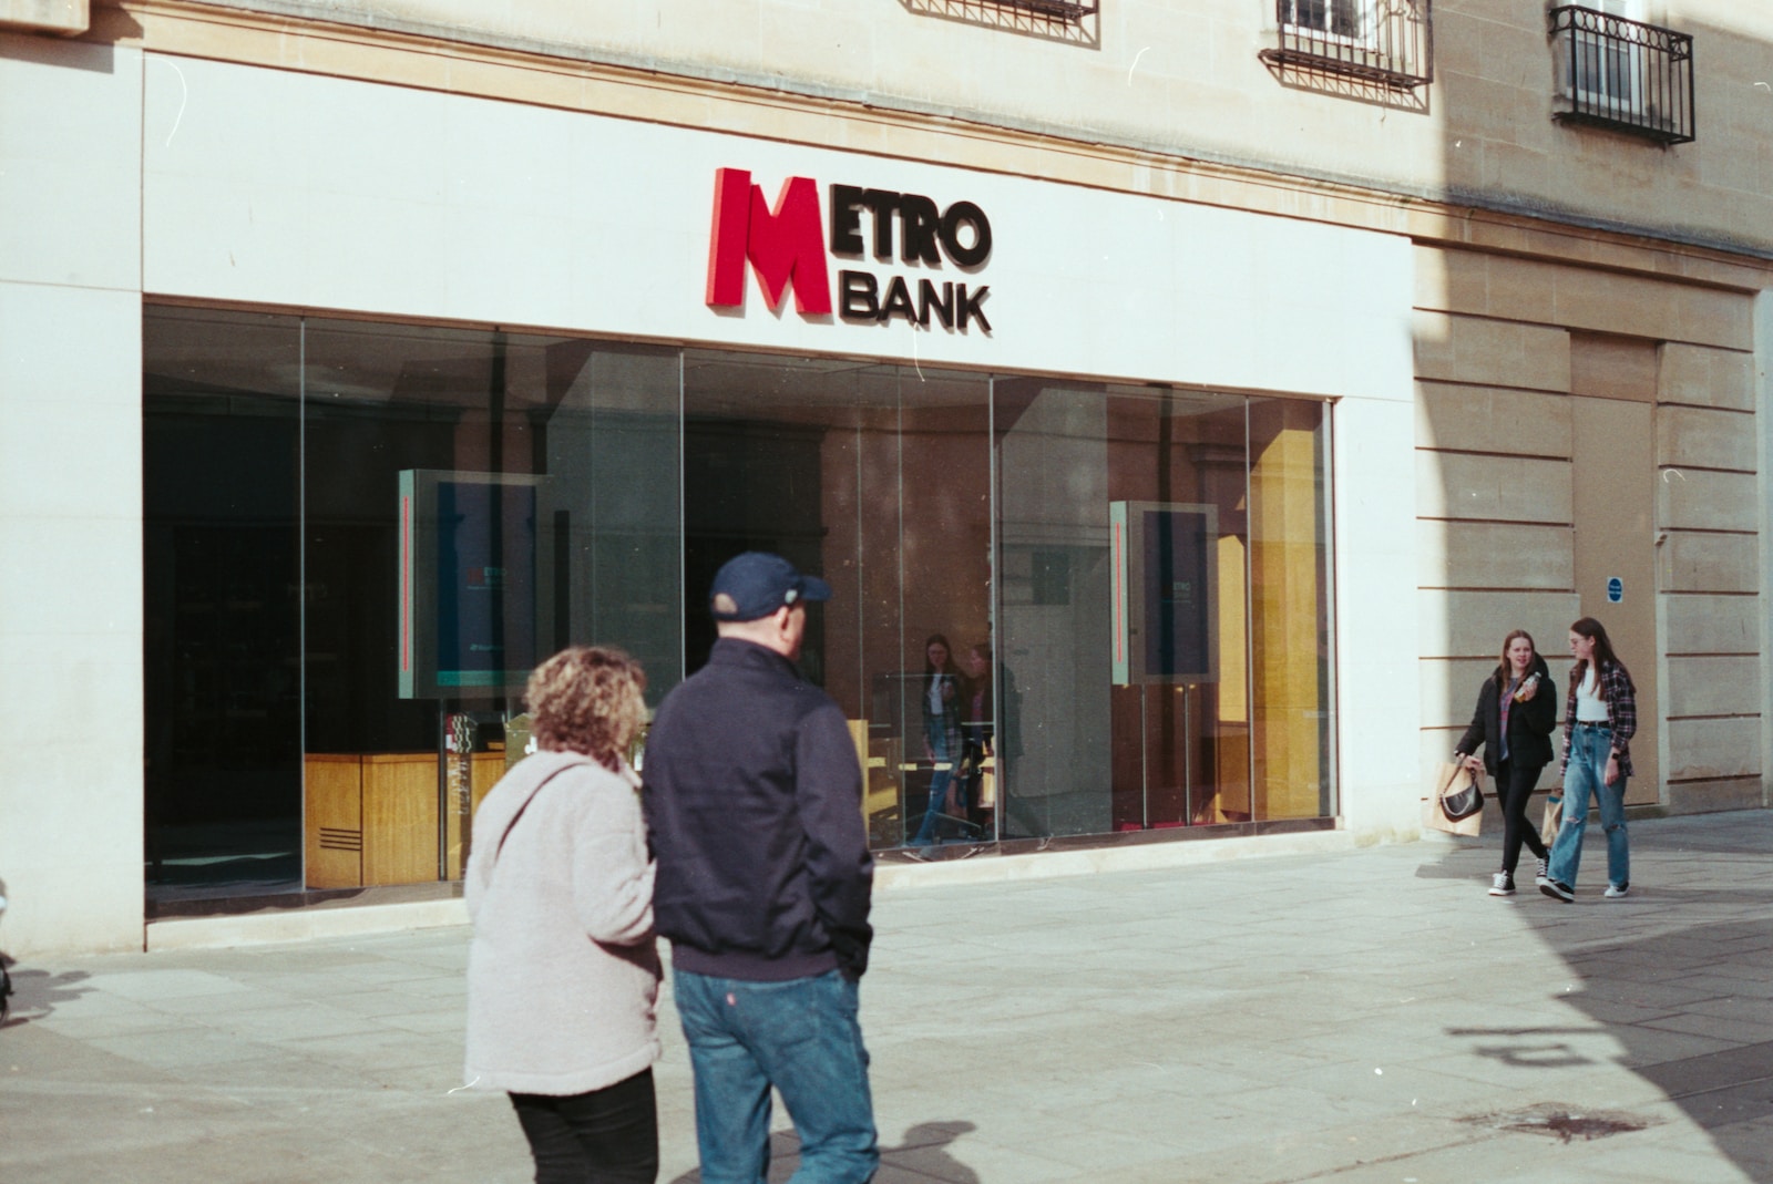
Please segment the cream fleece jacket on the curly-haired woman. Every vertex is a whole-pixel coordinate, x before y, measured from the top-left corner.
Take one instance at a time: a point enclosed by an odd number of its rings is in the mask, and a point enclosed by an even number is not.
[[[465,883],[470,1087],[585,1094],[660,1058],[637,785],[631,769],[541,752],[480,803]]]

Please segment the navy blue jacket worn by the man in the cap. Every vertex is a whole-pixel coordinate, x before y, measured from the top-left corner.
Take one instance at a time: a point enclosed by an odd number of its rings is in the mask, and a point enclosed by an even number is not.
[[[780,654],[720,638],[647,734],[652,915],[672,962],[780,982],[869,964],[874,856],[862,766],[830,695]]]

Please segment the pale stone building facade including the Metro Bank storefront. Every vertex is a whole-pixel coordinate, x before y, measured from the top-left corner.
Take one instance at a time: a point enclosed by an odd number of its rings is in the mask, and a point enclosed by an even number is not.
[[[745,548],[883,853],[1415,837],[1580,615],[1768,805],[1773,16],[1626,7],[0,4],[7,948],[447,893]]]

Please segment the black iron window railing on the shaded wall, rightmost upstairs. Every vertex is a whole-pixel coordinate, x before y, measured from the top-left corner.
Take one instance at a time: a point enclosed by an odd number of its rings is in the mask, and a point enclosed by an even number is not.
[[[1693,37],[1594,9],[1551,9],[1557,94],[1551,117],[1686,144],[1693,119]]]

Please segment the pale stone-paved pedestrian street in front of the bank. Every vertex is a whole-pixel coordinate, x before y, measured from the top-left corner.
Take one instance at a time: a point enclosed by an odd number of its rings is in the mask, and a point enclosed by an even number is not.
[[[885,892],[878,1180],[1773,1180],[1773,814],[1631,838],[1633,895],[1594,833],[1574,906],[1486,897],[1496,837]],[[0,1180],[530,1179],[504,1097],[454,1090],[466,939],[16,966]]]

